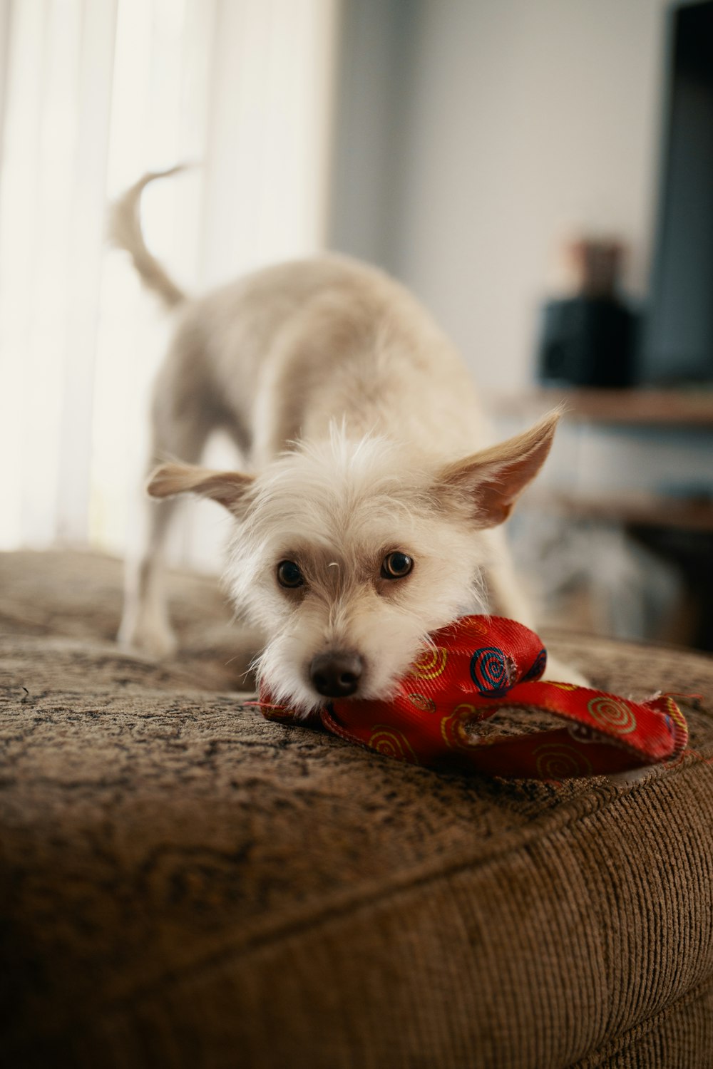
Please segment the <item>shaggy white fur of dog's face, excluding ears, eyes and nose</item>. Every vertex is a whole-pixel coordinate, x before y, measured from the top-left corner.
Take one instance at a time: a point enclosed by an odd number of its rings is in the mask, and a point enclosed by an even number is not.
[[[239,616],[265,635],[254,667],[272,698],[304,713],[323,704],[309,668],[331,651],[361,659],[359,698],[388,697],[429,632],[485,607],[489,552],[474,527],[435,468],[383,437],[332,429],[270,464],[241,502],[226,580]],[[394,551],[414,568],[385,579]],[[284,559],[303,587],[278,585]]]

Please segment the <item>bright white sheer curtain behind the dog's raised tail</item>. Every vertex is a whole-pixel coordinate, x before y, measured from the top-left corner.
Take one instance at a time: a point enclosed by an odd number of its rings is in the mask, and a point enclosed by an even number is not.
[[[197,162],[144,198],[190,292],[323,247],[337,6],[0,0],[0,548],[131,543],[170,317],[107,248],[109,198]],[[219,540],[191,509],[174,559]]]

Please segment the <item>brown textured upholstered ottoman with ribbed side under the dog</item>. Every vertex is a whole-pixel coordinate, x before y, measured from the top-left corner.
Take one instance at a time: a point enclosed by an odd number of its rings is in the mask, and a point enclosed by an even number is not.
[[[553,636],[706,696],[646,781],[441,775],[242,708],[207,580],[121,653],[120,575],[0,557],[4,1065],[713,1066],[709,660]]]

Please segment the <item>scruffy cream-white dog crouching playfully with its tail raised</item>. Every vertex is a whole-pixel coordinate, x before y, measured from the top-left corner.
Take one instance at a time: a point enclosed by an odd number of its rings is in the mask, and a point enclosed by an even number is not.
[[[487,447],[470,377],[428,313],[379,270],[338,255],[260,270],[187,299],[148,251],[148,174],[114,206],[113,237],[181,306],[153,409],[148,543],[120,640],[167,655],[160,579],[172,498],[234,517],[227,580],[259,630],[258,677],[307,711],[385,697],[428,634],[492,610],[531,623],[498,528],[537,475],[557,414]],[[213,430],[254,474],[196,466]],[[552,672],[552,669],[551,669]],[[557,670],[572,679],[572,671]]]

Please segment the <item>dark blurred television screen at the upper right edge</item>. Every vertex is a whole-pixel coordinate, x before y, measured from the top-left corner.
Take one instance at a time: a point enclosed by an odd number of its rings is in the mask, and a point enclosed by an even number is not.
[[[668,114],[641,360],[647,383],[713,381],[713,0],[670,16]]]

